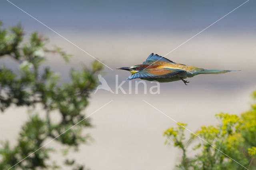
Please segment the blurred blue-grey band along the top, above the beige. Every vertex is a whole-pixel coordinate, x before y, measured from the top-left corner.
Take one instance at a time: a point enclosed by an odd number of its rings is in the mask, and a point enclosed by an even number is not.
[[[244,0],[11,0],[53,29],[104,32],[179,32],[205,28]],[[256,2],[250,0],[212,31],[256,31]],[[21,22],[28,30],[44,31],[39,23],[2,0],[1,20],[6,26]]]

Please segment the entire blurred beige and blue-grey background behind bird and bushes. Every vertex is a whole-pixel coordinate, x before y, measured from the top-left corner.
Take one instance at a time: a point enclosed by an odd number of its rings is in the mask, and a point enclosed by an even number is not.
[[[119,82],[130,73],[115,70],[142,63],[150,53],[165,55],[244,1],[18,1],[14,4],[100,59],[113,71],[104,68],[103,77],[115,91],[115,75]],[[166,57],[177,63],[206,69],[241,70],[221,75],[198,75],[182,81],[162,83],[160,95],[144,95],[142,85],[135,94],[112,94],[98,90],[91,95],[87,115],[102,105],[112,103],[91,116],[93,128],[85,130],[94,141],[81,145],[79,152],[69,155],[92,170],[169,170],[174,168],[180,152],[164,145],[162,136],[176,123],[150,107],[148,103],[188,124],[196,131],[202,125],[216,124],[214,115],[222,112],[240,114],[249,108],[250,93],[256,89],[256,2],[249,1]],[[69,65],[60,57],[49,56],[47,64],[68,81],[68,68],[88,65],[93,58],[48,30],[7,1],[0,5],[4,27],[21,22],[26,35],[42,32],[50,45],[63,47],[73,54]],[[16,67],[8,59],[0,64]],[[152,85],[147,82],[148,87]],[[123,85],[128,92],[128,81]],[[0,114],[0,140],[15,144],[20,127],[28,118],[26,109],[12,108]],[[58,148],[55,142],[48,144]],[[53,160],[61,164],[61,153]]]

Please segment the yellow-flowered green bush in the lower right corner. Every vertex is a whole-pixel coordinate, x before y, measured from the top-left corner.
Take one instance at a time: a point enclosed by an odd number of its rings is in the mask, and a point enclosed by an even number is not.
[[[256,91],[253,97],[256,99]],[[244,169],[228,158],[230,156],[246,168],[256,169],[256,103],[240,116],[220,113],[216,118],[220,120],[220,125],[202,126],[195,132],[197,136],[191,134],[187,140],[184,138],[184,130],[180,130],[180,124],[164,132],[166,143],[172,144],[174,141],[174,146],[182,149],[182,160],[177,167],[184,170]],[[198,139],[198,136],[208,143]],[[195,150],[194,156],[186,155],[189,146]]]

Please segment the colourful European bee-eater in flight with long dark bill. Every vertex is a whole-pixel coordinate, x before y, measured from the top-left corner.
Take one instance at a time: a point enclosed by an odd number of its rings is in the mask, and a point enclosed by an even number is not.
[[[120,67],[117,69],[128,70],[132,73],[127,79],[144,79],[148,81],[171,82],[182,80],[185,85],[189,83],[186,81],[187,77],[194,77],[198,74],[220,74],[227,73],[234,70],[210,70],[192,67],[184,64],[174,63],[173,61],[161,57],[154,53],[150,54],[146,61],[142,64],[134,65],[132,67]]]

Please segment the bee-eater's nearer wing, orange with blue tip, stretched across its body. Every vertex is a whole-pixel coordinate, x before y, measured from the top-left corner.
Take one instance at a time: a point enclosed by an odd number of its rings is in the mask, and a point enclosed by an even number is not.
[[[127,79],[137,79],[137,78],[166,78],[174,77],[179,73],[183,73],[184,70],[181,69],[170,69],[170,68],[151,68],[138,71],[128,77]]]

